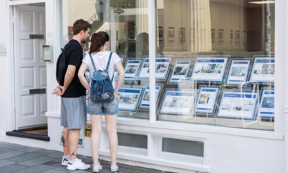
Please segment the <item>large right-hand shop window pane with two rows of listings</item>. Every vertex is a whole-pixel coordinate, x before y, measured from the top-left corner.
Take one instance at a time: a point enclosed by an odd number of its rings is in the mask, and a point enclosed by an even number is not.
[[[157,120],[274,130],[275,4],[251,2],[157,0]]]

